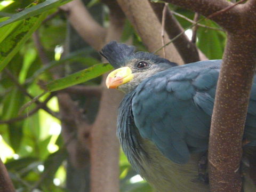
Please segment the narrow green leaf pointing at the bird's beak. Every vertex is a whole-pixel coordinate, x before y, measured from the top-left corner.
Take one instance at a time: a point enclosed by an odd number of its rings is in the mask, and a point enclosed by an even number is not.
[[[113,67],[108,63],[97,64],[67,77],[52,81],[47,84],[46,87],[49,91],[58,91],[72,85],[89,81],[90,79],[98,77],[111,69],[113,69]]]

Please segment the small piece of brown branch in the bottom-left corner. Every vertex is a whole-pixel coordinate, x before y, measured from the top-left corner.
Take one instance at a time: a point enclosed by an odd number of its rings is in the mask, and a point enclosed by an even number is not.
[[[9,174],[0,159],[0,192],[15,192]]]

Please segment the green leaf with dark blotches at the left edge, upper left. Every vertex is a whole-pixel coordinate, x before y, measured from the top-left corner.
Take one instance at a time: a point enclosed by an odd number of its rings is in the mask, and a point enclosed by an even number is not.
[[[29,39],[45,19],[47,13],[25,19],[14,32],[0,43],[0,71],[9,63],[21,46]]]

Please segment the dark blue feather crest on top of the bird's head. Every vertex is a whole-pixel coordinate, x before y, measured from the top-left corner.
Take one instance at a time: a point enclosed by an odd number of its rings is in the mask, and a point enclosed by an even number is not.
[[[111,41],[105,45],[99,53],[117,69],[125,66],[125,61],[131,59],[134,51],[134,46]]]

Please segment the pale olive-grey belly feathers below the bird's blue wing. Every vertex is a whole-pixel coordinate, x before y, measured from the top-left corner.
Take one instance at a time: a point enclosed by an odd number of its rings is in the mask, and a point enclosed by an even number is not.
[[[208,192],[209,185],[198,181],[198,162],[202,154],[191,155],[190,161],[177,164],[163,156],[150,141],[141,140],[147,155],[141,156],[139,172],[159,192]]]

